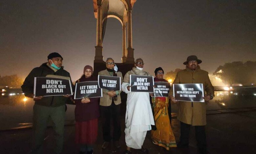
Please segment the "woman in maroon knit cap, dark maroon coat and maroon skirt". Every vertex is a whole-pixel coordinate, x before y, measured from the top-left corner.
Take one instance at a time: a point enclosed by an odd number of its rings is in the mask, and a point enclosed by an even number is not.
[[[84,67],[84,74],[77,82],[97,81],[92,75],[93,67]],[[98,135],[100,98],[75,99],[75,142],[80,144],[80,154],[92,154]]]

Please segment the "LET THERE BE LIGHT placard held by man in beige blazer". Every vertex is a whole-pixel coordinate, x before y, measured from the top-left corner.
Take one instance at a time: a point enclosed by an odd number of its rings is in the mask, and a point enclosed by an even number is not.
[[[98,75],[99,87],[106,90],[121,90],[121,77]]]

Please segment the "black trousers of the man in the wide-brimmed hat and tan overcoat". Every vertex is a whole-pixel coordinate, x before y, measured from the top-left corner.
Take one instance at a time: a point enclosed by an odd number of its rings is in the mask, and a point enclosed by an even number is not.
[[[181,145],[189,144],[189,124],[185,124],[181,122],[181,136],[180,142]],[[205,135],[205,127],[203,126],[195,126],[195,134],[197,140],[197,147],[200,149],[206,149],[206,135]]]

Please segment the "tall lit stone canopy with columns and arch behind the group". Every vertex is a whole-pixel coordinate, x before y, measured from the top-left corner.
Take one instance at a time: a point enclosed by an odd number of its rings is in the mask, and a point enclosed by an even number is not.
[[[94,75],[106,69],[102,55],[103,39],[107,18],[116,18],[122,28],[122,63],[115,63],[123,75],[134,66],[134,48],[132,46],[132,9],[136,0],[93,0],[96,24],[96,46],[94,58]],[[127,35],[126,35],[127,34]],[[127,41],[127,46],[126,46]],[[111,57],[111,56],[110,56]]]

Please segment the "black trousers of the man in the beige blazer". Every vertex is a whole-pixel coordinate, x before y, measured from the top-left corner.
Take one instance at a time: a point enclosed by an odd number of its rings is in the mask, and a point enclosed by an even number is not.
[[[100,106],[102,119],[103,140],[110,142],[111,139],[118,141],[121,136],[120,104],[115,105],[112,100],[111,106]],[[113,137],[111,137],[111,119],[113,120]]]

